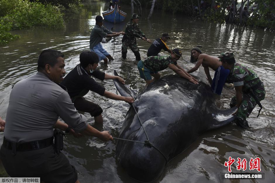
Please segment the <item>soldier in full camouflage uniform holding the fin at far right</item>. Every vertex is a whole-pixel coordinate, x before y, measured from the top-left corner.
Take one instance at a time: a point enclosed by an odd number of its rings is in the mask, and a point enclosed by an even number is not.
[[[230,107],[238,107],[233,113],[236,114],[236,124],[248,128],[246,118],[257,104],[262,107],[259,101],[265,97],[264,83],[252,69],[236,63],[233,53],[222,53],[219,58],[222,66],[231,70],[228,77],[234,83],[236,96],[231,99]]]

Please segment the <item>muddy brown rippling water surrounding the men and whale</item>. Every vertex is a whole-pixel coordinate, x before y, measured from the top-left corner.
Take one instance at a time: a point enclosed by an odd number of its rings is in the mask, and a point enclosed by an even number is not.
[[[0,49],[0,116],[5,119],[11,87],[17,81],[24,79],[37,71],[37,58],[42,50],[52,48],[65,54],[66,72],[72,70],[79,63],[79,54],[89,50],[89,37],[95,24],[96,15],[100,15],[108,4],[102,1],[89,1],[83,7],[80,15],[68,17],[66,28],[49,30],[34,28],[13,31],[20,34],[18,41],[13,41]],[[128,13],[127,18],[120,24],[113,25],[105,22],[106,28],[113,27],[114,32],[124,31],[125,24],[130,19],[130,6],[123,6]],[[143,10],[139,20],[140,29],[145,35],[154,40],[163,32],[168,32],[171,40],[167,42],[170,48],[183,50],[183,58],[190,60],[190,50],[193,46],[202,45],[203,53],[218,56],[224,51],[234,51],[237,62],[251,67],[264,82],[266,97],[262,101],[263,109],[259,118],[256,107],[248,123],[251,130],[242,130],[235,124],[212,130],[200,137],[182,154],[171,160],[156,182],[274,182],[275,178],[275,109],[274,109],[274,83],[275,83],[275,32],[251,27],[216,24],[214,22],[194,21],[192,18],[181,15],[171,15],[155,11],[150,20],[146,19],[149,11]],[[137,62],[133,53],[128,50],[127,59],[121,60],[122,36],[102,44],[113,55],[114,61],[108,66],[99,63],[98,69],[108,74],[116,71],[126,80],[126,84],[138,92],[145,86],[137,70]],[[141,57],[146,57],[149,44],[137,40]],[[161,54],[166,54],[162,52]],[[179,61],[185,69],[194,65],[190,62]],[[204,72],[200,67],[199,71]],[[162,75],[173,74],[166,69]],[[214,72],[211,72],[214,76]],[[116,92],[111,80],[99,81],[108,91]],[[224,88],[216,104],[226,109],[229,107],[234,89]],[[118,137],[124,117],[129,105],[125,102],[110,100],[106,97],[89,92],[85,96],[99,104],[104,112],[103,126],[95,126],[99,130],[110,130],[114,137]],[[161,107],[161,106],[159,106]],[[94,119],[85,113],[90,124]],[[3,142],[3,133],[0,134],[0,144]],[[94,137],[65,139],[63,153],[72,165],[78,170],[80,182],[135,182],[131,179],[116,161],[116,140],[102,142]],[[264,179],[222,179],[223,172],[227,171],[224,162],[228,157],[237,159],[261,158],[261,172]],[[134,158],[134,157],[133,157]],[[236,163],[235,163],[236,164]],[[247,164],[249,169],[249,163]],[[236,165],[232,167],[233,172]],[[256,170],[245,172],[257,172]]]

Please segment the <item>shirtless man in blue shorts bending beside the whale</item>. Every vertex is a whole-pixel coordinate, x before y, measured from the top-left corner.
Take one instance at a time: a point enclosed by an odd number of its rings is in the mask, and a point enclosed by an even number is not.
[[[218,57],[210,56],[207,54],[202,54],[200,48],[195,47],[191,50],[191,60],[197,60],[195,67],[187,71],[187,73],[191,73],[196,71],[200,65],[203,66],[204,72],[207,76],[209,83],[211,84],[212,90],[214,93],[221,95],[221,91],[223,89],[225,80],[229,74],[229,70],[225,69]],[[212,81],[210,76],[209,67],[215,71],[215,75]]]

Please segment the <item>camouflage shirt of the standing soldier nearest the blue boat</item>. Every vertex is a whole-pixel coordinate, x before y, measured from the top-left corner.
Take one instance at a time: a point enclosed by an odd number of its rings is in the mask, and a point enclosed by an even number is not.
[[[134,24],[132,20],[126,24],[125,34],[123,36],[122,42],[124,41],[133,41],[135,37],[138,38],[146,38],[143,32],[141,32],[140,27],[138,24]]]

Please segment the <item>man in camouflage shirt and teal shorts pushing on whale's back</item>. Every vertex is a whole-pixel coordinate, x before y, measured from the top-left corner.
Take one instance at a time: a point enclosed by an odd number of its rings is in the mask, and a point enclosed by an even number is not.
[[[198,84],[198,81],[181,68],[177,60],[181,57],[181,50],[173,49],[171,55],[166,56],[151,56],[140,60],[137,63],[137,69],[140,72],[140,77],[145,80],[146,86],[160,78],[159,71],[169,67],[179,76],[188,79],[190,82]],[[152,79],[152,76],[154,79]]]

